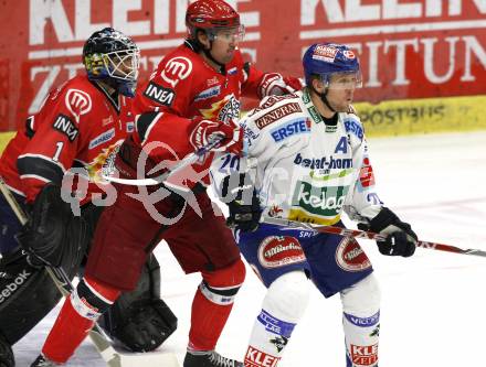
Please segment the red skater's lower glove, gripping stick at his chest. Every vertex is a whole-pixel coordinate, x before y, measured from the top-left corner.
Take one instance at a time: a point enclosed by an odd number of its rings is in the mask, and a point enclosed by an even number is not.
[[[221,142],[212,149],[213,151],[226,151],[234,154],[242,151],[243,130],[235,121],[212,121],[201,117],[194,118],[193,121],[189,141],[194,150],[204,148],[218,139]]]

